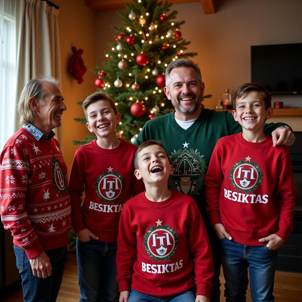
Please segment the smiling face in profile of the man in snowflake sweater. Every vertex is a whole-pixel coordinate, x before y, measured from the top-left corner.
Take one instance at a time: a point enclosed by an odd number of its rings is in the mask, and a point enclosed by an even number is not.
[[[44,102],[30,99],[31,108],[36,111],[36,119],[33,122],[34,126],[49,134],[53,128],[61,126],[61,116],[66,110],[63,96],[59,88],[49,82],[43,82],[42,87],[46,94],[44,95]]]

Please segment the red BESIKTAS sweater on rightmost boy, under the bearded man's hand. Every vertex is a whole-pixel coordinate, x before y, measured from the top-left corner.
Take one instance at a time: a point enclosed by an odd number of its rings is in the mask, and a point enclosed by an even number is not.
[[[273,147],[242,133],[220,138],[206,175],[207,212],[211,224],[222,223],[237,243],[262,246],[275,233],[285,241],[293,230],[296,192],[285,146]]]

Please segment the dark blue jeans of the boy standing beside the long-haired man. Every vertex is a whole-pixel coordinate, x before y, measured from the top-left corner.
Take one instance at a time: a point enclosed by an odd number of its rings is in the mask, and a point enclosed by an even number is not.
[[[116,281],[117,242],[102,242],[90,238],[86,242],[76,240],[79,271],[80,301],[117,302]]]

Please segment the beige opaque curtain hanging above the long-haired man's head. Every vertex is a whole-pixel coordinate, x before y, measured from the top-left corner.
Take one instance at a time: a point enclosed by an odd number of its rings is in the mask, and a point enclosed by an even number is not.
[[[17,95],[38,74],[61,78],[59,9],[43,0],[17,0]],[[19,117],[16,119],[19,129]]]

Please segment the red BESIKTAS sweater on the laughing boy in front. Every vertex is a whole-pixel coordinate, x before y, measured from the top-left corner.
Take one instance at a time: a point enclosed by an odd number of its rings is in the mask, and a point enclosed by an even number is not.
[[[196,295],[210,297],[212,251],[193,198],[172,191],[154,202],[145,192],[127,201],[117,239],[117,281],[152,296],[179,294],[197,285]],[[194,281],[195,279],[195,281]]]

